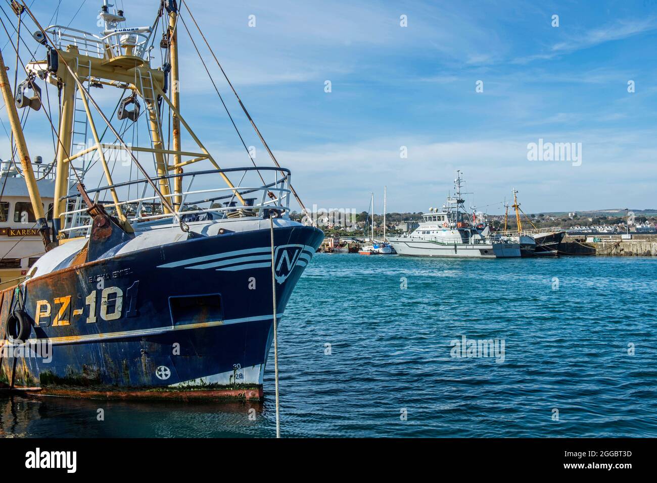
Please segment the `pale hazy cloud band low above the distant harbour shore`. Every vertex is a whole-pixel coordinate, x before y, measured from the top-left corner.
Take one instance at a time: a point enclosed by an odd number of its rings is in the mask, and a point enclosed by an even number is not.
[[[550,142],[582,142],[581,167],[528,161],[527,144],[537,142],[539,137]],[[407,146],[408,158],[400,158],[401,145]],[[468,203],[496,203],[515,187],[524,193],[524,203],[532,211],[568,211],[595,209],[608,202],[606,190],[589,191],[587,186],[607,186],[610,180],[632,183],[639,171],[642,179],[654,179],[654,148],[657,141],[650,138],[649,131],[627,135],[610,129],[537,130],[522,137],[478,139],[476,135],[465,135],[461,140],[446,142],[432,142],[426,137],[374,138],[279,150],[276,155],[295,173],[295,184],[303,186],[307,204],[351,207],[359,200],[365,204],[370,191],[380,193],[387,185],[389,209],[426,209],[442,203],[442,197],[452,188],[453,172],[461,169],[468,191],[474,192]],[[242,155],[235,152],[235,156],[240,159]],[[309,159],[313,161],[309,163]],[[619,195],[639,206],[648,191],[645,186]],[[564,193],[568,196],[562,196]]]

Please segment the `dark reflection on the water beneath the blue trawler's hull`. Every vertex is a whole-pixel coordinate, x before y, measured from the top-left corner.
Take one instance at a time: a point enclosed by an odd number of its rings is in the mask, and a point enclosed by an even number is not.
[[[103,421],[99,421],[101,415]],[[269,437],[271,434],[262,404],[0,397],[0,437]]]

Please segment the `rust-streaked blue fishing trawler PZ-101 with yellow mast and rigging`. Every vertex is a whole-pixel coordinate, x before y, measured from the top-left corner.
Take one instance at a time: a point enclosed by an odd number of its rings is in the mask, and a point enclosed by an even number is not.
[[[30,171],[29,140],[12,122],[46,253],[0,293],[0,380],[60,396],[257,400],[275,319],[323,232],[290,219],[290,198],[303,208],[290,171],[241,101],[275,166],[222,169],[185,121],[170,88],[179,82],[176,2],[162,2],[154,26],[141,28],[125,28],[124,12],[110,7],[105,0],[99,35],[43,28],[26,7],[16,12],[34,23],[45,57],[24,66],[21,92],[32,89],[34,102],[14,104],[0,63],[14,121],[17,109],[45,104],[41,81],[59,89],[51,98],[61,102],[52,223]],[[158,26],[165,62],[153,67]],[[99,87],[123,91],[116,119],[91,95]],[[114,142],[103,142],[99,118]],[[123,134],[140,127],[148,145],[127,146]],[[183,127],[194,148],[181,149]],[[87,144],[76,139],[87,135]],[[93,166],[104,180],[94,180],[98,188],[88,187]]]

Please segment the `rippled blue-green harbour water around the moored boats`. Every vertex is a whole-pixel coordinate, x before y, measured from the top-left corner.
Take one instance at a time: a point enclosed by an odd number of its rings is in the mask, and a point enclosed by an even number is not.
[[[655,437],[656,269],[317,254],[279,325],[281,434]],[[468,357],[463,336],[498,350]],[[0,436],[275,436],[273,353],[265,398],[5,397]]]

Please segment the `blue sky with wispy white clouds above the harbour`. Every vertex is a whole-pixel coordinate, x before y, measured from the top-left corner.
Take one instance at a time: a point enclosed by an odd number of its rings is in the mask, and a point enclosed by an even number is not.
[[[115,2],[126,26],[152,24],[158,7]],[[62,0],[55,14],[58,3],[32,8],[98,33],[101,1]],[[367,211],[374,192],[381,213],[387,186],[388,212],[426,211],[459,169],[467,204],[489,213],[512,189],[526,213],[657,208],[657,0],[186,3],[308,207]],[[247,146],[271,165],[182,12]],[[183,116],[222,167],[249,165],[180,35]],[[52,156],[49,131],[29,129]],[[579,159],[528,159],[539,140],[574,143]]]

